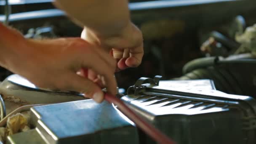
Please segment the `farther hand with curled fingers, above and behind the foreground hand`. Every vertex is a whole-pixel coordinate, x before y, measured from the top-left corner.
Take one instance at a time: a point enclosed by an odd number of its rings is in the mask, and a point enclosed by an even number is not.
[[[118,35],[100,35],[84,28],[81,38],[110,52],[117,60],[117,71],[138,67],[144,54],[141,31],[131,22]]]

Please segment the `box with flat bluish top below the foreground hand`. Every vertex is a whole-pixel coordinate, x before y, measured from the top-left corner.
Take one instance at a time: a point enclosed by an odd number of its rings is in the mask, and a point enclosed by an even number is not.
[[[9,136],[8,143],[139,144],[137,129],[106,101],[51,104],[34,107],[31,113],[31,122],[36,128]]]

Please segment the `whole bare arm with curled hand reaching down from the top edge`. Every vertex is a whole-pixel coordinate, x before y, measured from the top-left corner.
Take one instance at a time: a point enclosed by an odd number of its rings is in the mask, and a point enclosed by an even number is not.
[[[131,22],[128,0],[56,0],[55,5],[84,26],[84,40],[112,50],[119,69],[141,64],[143,38]]]

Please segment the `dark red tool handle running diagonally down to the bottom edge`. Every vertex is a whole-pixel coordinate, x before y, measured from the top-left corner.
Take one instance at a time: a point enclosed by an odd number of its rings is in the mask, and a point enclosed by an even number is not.
[[[153,125],[147,123],[145,120],[141,119],[138,115],[136,115],[130,108],[128,108],[123,101],[117,99],[115,96],[110,94],[105,94],[104,99],[109,103],[113,103],[126,115],[130,120],[133,121],[139,128],[141,128],[145,133],[151,136],[156,142],[159,144],[175,144],[170,138],[165,136],[161,131],[155,128]]]

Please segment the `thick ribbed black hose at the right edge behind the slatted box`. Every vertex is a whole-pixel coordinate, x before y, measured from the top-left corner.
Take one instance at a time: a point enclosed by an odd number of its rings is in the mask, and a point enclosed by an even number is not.
[[[216,89],[230,94],[256,97],[256,59],[250,53],[223,57],[207,57],[190,61],[178,80],[211,79]]]

